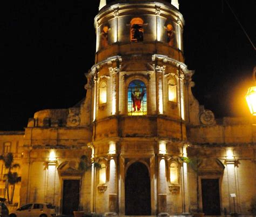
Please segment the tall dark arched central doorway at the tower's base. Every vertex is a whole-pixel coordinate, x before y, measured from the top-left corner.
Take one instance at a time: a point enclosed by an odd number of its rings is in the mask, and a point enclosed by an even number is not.
[[[150,174],[141,162],[134,162],[125,177],[125,215],[151,215]]]

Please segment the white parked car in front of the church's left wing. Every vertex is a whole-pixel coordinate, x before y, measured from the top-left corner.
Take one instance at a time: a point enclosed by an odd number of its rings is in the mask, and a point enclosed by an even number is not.
[[[10,217],[52,217],[56,216],[55,207],[51,204],[31,203],[19,207],[9,214]]]

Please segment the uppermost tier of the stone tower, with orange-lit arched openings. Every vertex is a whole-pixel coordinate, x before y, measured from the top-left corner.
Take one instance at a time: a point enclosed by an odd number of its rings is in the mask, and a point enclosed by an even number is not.
[[[116,55],[155,53],[184,62],[178,0],[100,0],[96,64]]]

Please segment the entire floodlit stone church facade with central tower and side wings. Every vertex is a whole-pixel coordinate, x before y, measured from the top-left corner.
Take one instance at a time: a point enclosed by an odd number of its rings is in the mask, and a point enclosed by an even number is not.
[[[50,202],[59,214],[252,214],[255,126],[215,120],[194,98],[178,9],[100,1],[85,99],[36,112],[24,132],[0,132],[3,153],[21,165],[14,202]]]

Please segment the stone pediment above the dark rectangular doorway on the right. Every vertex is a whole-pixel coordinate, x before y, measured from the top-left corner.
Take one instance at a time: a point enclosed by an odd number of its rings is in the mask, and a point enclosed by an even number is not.
[[[223,174],[225,166],[217,158],[201,159],[198,165],[199,174]]]

